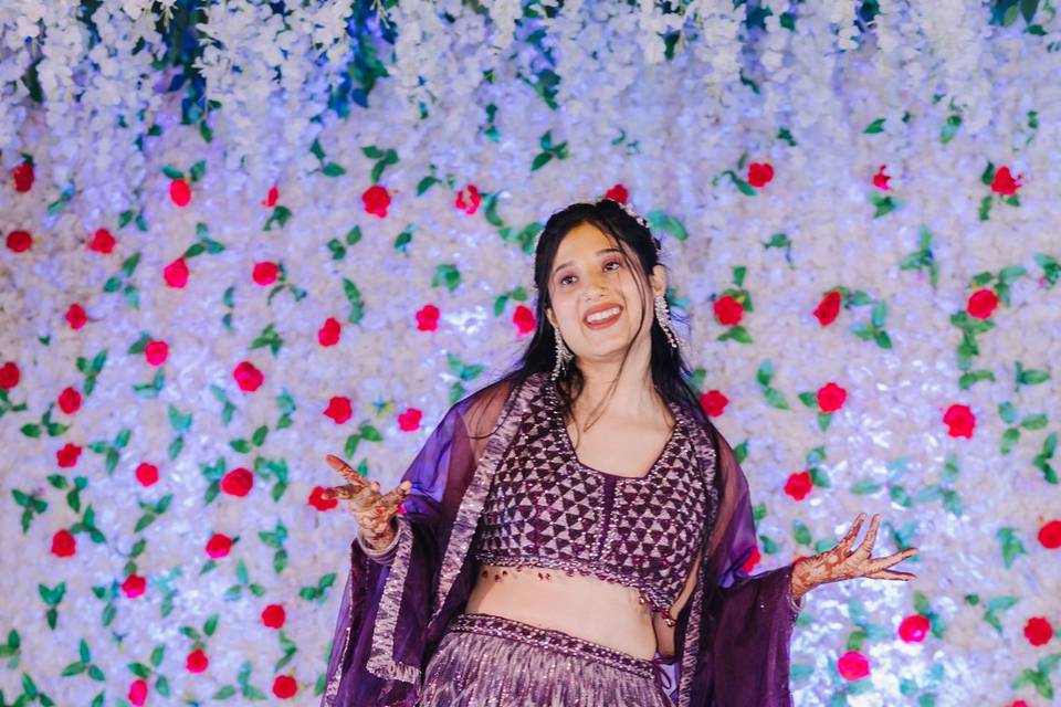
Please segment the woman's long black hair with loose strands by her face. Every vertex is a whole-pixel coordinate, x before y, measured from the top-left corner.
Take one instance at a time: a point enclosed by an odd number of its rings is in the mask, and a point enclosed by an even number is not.
[[[630,252],[635,256],[637,263],[629,262],[624,252],[622,257],[627,261],[630,272],[634,273],[638,279],[642,279],[642,285],[648,282],[652,268],[661,264],[656,244],[659,240],[653,238],[652,233],[645,226],[641,225],[637,219],[631,217],[622,205],[612,199],[601,199],[597,202],[577,202],[572,203],[549,217],[549,220],[543,229],[534,253],[534,284],[537,292],[537,302],[535,303],[535,318],[537,327],[530,342],[524,350],[523,356],[516,365],[495,382],[511,381],[516,387],[523,383],[527,378],[539,371],[551,372],[556,362],[556,329],[549,324],[545,310],[550,306],[549,300],[549,274],[553,262],[556,258],[556,252],[560,242],[575,226],[588,223],[600,229],[601,232],[611,241],[612,246],[623,250],[618,241],[621,241]],[[665,266],[664,266],[665,267]],[[643,300],[642,287],[638,288],[642,297],[641,310],[645,307],[653,308],[651,302]],[[687,325],[689,317],[677,315],[673,308],[670,309],[671,321],[680,321]],[[641,334],[643,324],[638,325],[638,330],[627,346],[622,356],[622,362],[619,367],[621,374],[626,366],[633,341]],[[685,327],[687,329],[687,326]],[[689,382],[692,371],[685,362],[681,348],[673,348],[663,333],[660,323],[652,318],[652,352],[650,357],[650,369],[652,371],[652,382],[655,390],[663,400],[682,405],[692,414],[692,416],[703,426],[711,430],[712,425],[700,404],[696,390]],[[578,366],[577,359],[568,361],[565,372],[557,379],[557,390],[559,393],[560,405],[565,419],[571,418],[574,401],[582,390],[585,379]],[[608,394],[603,400],[608,400],[618,383],[619,376],[612,382]],[[510,408],[511,411],[511,408]],[[507,416],[507,415],[506,415]],[[497,423],[501,426],[503,421]],[[496,428],[495,428],[496,430]]]

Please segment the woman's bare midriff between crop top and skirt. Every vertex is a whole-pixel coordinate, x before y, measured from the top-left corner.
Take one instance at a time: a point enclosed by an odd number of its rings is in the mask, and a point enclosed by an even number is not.
[[[485,574],[484,574],[485,572]],[[538,573],[549,579],[538,579]],[[495,577],[500,576],[497,580]],[[466,613],[493,614],[554,629],[634,657],[652,659],[655,631],[638,590],[591,574],[533,566],[483,564]]]

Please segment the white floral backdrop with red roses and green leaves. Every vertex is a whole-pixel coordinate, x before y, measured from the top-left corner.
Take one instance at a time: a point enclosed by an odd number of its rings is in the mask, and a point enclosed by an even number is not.
[[[314,705],[355,524],[533,331],[548,215],[663,241],[798,705],[1059,704],[1061,22],[1034,0],[0,6],[0,705]]]

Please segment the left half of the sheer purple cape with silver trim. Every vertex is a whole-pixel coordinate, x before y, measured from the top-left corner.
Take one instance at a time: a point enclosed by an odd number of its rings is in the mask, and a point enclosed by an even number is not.
[[[468,552],[475,500],[481,508],[518,425],[512,392],[501,381],[445,413],[401,477],[412,488],[397,516],[393,550],[371,559],[350,542],[322,707],[416,704],[428,656],[475,580]]]

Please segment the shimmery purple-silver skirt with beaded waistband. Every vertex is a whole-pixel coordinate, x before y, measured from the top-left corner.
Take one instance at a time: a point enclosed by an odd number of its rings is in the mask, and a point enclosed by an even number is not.
[[[647,661],[505,616],[459,614],[424,671],[419,707],[672,707]]]

